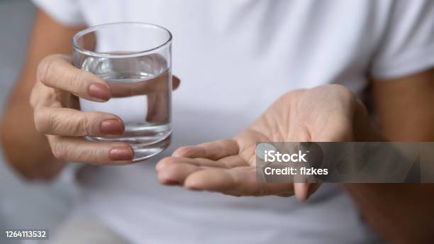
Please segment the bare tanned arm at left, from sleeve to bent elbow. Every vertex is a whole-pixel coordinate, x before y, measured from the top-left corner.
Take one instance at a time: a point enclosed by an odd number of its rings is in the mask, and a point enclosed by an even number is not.
[[[40,60],[54,53],[71,53],[69,42],[80,29],[62,26],[42,11],[36,13],[26,61],[1,119],[4,155],[28,179],[55,177],[65,165],[55,160],[45,135],[36,131],[29,96]]]

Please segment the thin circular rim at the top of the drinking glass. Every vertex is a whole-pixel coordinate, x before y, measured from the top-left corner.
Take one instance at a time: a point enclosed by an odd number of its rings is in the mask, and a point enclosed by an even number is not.
[[[106,28],[109,26],[117,26],[117,25],[145,26],[148,28],[150,27],[150,28],[154,28],[154,29],[163,30],[163,31],[165,31],[165,33],[167,33],[168,38],[161,45],[157,45],[155,48],[148,48],[146,50],[128,52],[126,54],[109,53],[109,52],[94,52],[91,50],[87,50],[85,48],[80,48],[79,45],[77,45],[77,40],[79,38],[83,37],[84,35],[87,35],[91,32],[94,32],[95,30],[98,30],[100,28]],[[72,48],[74,48],[74,50],[77,50],[77,52],[80,52],[84,55],[94,56],[94,57],[109,57],[109,58],[138,57],[138,56],[146,55],[149,52],[154,52],[156,50],[159,50],[160,48],[165,48],[167,45],[170,45],[171,43],[172,43],[172,33],[170,33],[170,31],[167,30],[167,28],[164,28],[162,26],[158,26],[158,25],[153,24],[153,23],[145,23],[145,22],[113,22],[113,23],[104,23],[101,25],[91,26],[89,28],[86,28],[84,30],[80,30],[79,32],[75,33],[74,36],[72,37],[72,40],[71,40]]]

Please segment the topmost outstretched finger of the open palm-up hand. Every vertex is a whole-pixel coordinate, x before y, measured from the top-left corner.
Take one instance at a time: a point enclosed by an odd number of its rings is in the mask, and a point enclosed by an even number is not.
[[[219,160],[238,154],[238,143],[235,140],[222,139],[211,143],[203,143],[197,146],[187,146],[174,151],[175,157],[204,157],[210,160]]]

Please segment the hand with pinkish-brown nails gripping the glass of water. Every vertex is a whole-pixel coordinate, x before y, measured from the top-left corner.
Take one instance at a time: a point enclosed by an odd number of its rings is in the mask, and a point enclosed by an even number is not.
[[[174,77],[174,89],[177,86],[179,79]],[[50,55],[40,62],[30,104],[34,109],[35,126],[47,136],[55,157],[72,162],[116,165],[133,160],[133,150],[128,143],[93,142],[84,138],[123,133],[125,126],[118,116],[79,111],[78,97],[105,102],[112,96],[122,94],[113,94],[101,77],[74,67],[69,56]]]

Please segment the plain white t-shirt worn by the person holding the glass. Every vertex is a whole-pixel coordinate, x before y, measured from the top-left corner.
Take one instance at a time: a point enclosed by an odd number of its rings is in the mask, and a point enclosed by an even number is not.
[[[34,0],[66,25],[142,21],[172,31],[172,146],[230,138],[286,91],[434,65],[432,0]],[[188,192],[157,182],[156,157],[79,176],[77,214],[136,243],[369,243],[376,235],[336,184],[294,198]]]

